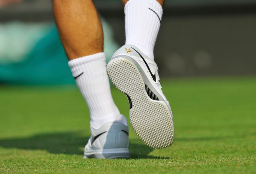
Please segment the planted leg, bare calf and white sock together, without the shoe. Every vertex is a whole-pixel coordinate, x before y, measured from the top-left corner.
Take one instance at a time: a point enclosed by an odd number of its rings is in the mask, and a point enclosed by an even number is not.
[[[111,96],[103,31],[93,1],[53,0],[53,10],[68,65],[90,110],[91,125],[125,123]]]

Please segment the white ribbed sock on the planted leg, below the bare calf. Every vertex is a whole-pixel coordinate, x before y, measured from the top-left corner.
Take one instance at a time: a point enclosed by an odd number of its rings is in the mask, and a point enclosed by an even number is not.
[[[76,58],[68,62],[90,110],[91,126],[98,129],[110,121],[119,121],[127,126],[126,118],[120,115],[110,92],[104,52]]]

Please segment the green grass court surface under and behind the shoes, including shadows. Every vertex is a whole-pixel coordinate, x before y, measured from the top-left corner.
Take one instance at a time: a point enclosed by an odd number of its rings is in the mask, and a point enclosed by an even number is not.
[[[76,86],[0,87],[0,173],[256,173],[256,77],[161,80],[175,140],[154,150],[130,127],[131,159],[83,159],[89,111]],[[121,113],[128,101],[112,89]]]

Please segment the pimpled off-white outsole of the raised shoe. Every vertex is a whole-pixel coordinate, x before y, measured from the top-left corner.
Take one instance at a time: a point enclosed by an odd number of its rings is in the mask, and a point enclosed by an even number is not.
[[[119,57],[107,65],[110,80],[132,102],[131,125],[142,141],[152,148],[167,148],[173,142],[172,114],[163,101],[149,98],[139,69],[133,62]]]

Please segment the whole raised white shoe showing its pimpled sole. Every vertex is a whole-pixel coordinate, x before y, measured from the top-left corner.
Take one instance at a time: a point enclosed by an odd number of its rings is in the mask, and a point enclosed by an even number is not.
[[[130,122],[152,148],[173,143],[173,116],[159,83],[157,64],[134,45],[118,49],[107,65],[110,80],[130,103]]]

